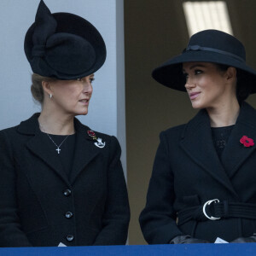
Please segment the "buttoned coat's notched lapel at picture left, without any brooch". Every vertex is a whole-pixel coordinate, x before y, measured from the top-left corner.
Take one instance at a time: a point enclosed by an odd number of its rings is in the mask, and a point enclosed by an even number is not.
[[[58,159],[57,155],[52,154],[52,151],[49,150],[49,138],[45,133],[39,130],[38,116],[39,113],[35,113],[32,115],[32,118],[21,122],[18,131],[34,135],[34,137],[26,143],[26,147],[32,154],[37,155],[38,158],[43,160],[46,165],[52,168],[68,184],[68,177],[66,172],[63,172],[61,161]]]

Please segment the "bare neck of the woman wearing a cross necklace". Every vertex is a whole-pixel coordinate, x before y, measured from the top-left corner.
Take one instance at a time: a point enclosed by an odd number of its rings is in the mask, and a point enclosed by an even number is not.
[[[40,130],[43,132],[55,135],[70,135],[75,132],[73,119],[74,117],[70,115],[60,115],[42,110],[38,122]]]

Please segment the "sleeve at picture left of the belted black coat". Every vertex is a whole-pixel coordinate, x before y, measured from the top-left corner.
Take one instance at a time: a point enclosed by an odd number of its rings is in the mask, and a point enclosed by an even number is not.
[[[177,212],[173,208],[175,194],[170,154],[165,133],[161,132],[146,207],[139,218],[143,236],[149,244],[166,244],[173,237],[183,235],[177,228]]]

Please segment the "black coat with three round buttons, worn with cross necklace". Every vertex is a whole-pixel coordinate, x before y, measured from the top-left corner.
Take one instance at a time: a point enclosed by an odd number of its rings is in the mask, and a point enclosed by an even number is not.
[[[119,143],[96,132],[106,143],[98,148],[90,128],[78,119],[74,125],[69,178],[49,152],[38,114],[0,131],[1,247],[125,244],[130,209]]]

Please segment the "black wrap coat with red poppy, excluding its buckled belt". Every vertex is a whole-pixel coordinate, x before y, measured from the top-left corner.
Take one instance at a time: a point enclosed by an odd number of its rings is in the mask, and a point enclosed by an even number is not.
[[[242,136],[253,138],[255,145],[245,148],[240,143]],[[256,233],[256,221],[249,218],[191,219],[183,224],[177,219],[177,212],[201,207],[213,199],[255,204],[255,148],[256,111],[245,102],[224,148],[222,163],[212,142],[206,110],[186,125],[161,132],[147,204],[140,216],[146,241],[168,243],[178,235],[232,241]]]

